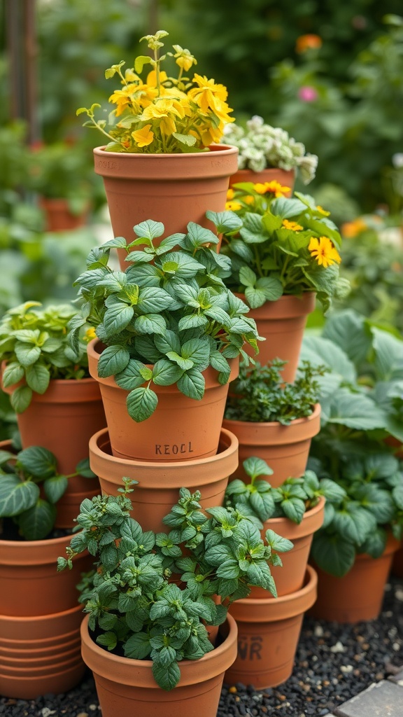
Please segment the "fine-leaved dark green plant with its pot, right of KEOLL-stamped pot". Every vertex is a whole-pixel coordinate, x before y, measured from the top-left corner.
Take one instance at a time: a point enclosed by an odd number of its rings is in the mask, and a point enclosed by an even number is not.
[[[320,429],[318,403],[321,366],[305,361],[293,383],[285,382],[285,361],[241,367],[227,398],[223,427],[239,441],[240,465],[232,478],[245,480],[243,461],[265,460],[272,469],[272,485],[305,472],[310,441]]]

